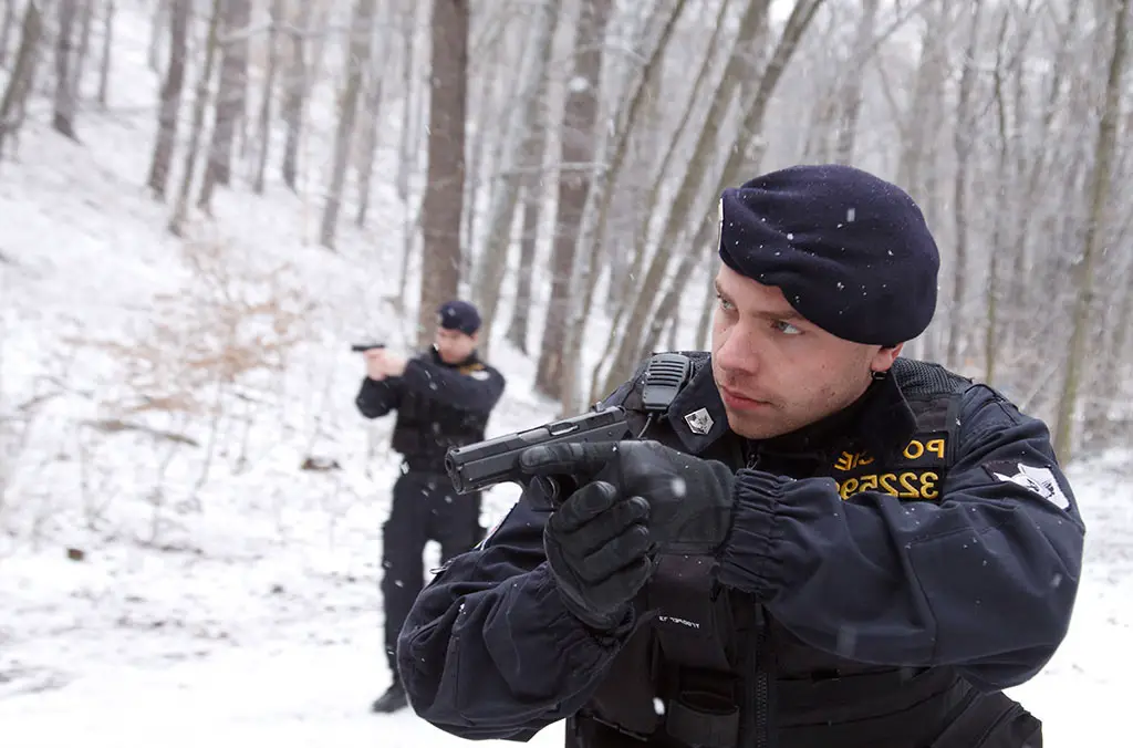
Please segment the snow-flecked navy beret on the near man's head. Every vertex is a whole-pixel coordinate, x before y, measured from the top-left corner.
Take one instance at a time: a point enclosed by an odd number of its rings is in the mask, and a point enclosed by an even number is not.
[[[939,253],[896,185],[852,167],[799,165],[725,189],[719,211],[724,264],[780,288],[823,330],[895,346],[932,320]]]

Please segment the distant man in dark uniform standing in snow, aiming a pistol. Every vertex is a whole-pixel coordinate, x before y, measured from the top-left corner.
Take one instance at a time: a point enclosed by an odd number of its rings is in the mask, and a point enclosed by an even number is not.
[[[504,379],[476,354],[476,307],[449,301],[438,315],[432,348],[416,358],[407,360],[385,348],[366,351],[366,377],[356,400],[367,418],[397,409],[392,445],[404,458],[383,528],[385,648],[394,677],[374,702],[375,712],[406,706],[397,678],[398,631],[425,584],[425,544],[440,543],[443,562],[471,549],[482,535],[480,496],[454,494],[444,454],[450,447],[484,439]]]

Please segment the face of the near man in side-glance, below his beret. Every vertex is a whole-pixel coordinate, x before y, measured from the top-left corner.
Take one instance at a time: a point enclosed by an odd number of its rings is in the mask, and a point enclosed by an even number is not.
[[[770,439],[845,408],[870,372],[893,365],[901,346],[836,338],[807,322],[783,291],[724,265],[716,275],[712,367],[732,431]]]

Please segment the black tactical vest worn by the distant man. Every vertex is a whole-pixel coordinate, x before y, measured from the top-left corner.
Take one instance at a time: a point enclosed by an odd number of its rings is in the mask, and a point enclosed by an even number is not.
[[[435,357],[429,360],[446,366]],[[471,367],[483,369],[484,365],[471,360],[451,368],[465,373],[465,368]],[[461,410],[415,392],[403,392],[391,447],[404,457],[410,470],[444,473],[444,456],[449,448],[483,441],[487,422],[486,414]]]

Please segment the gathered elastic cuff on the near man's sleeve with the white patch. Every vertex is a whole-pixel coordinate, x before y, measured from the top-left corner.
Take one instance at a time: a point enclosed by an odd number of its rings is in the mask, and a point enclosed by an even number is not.
[[[778,508],[787,479],[757,470],[740,470],[732,491],[735,517],[719,554],[717,578],[726,587],[770,601],[782,588],[776,550],[782,529]]]

